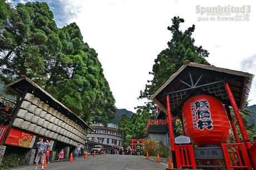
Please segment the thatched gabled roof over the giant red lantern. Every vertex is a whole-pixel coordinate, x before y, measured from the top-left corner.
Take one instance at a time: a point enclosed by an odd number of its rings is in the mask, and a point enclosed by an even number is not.
[[[190,73],[190,74],[189,74]],[[194,83],[199,79],[198,85],[207,84],[211,82],[221,82],[227,80],[232,90],[233,96],[239,108],[243,108],[245,102],[248,99],[250,87],[252,86],[252,80],[254,75],[241,71],[234,71],[231,69],[225,69],[215,66],[207,66],[204,64],[186,62],[179,68],[179,70],[170,76],[163,86],[161,86],[151,97],[152,101],[159,105],[159,107],[166,113],[166,93],[172,93],[176,91],[184,91],[188,88],[186,84],[190,83],[190,76],[193,76]],[[224,89],[225,91],[225,89]],[[186,99],[191,95],[191,90],[185,91],[183,98]],[[218,95],[217,95],[218,96]],[[223,99],[218,96],[221,102],[230,105],[228,99]],[[180,100],[179,106],[182,106],[184,101]]]

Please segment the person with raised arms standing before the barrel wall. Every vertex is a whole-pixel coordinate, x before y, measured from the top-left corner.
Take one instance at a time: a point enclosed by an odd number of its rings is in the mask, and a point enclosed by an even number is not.
[[[46,140],[46,138],[41,138],[39,142],[37,142],[37,147],[38,151],[36,154],[35,162],[36,162],[36,170],[38,166],[38,162],[40,161],[42,164],[43,169],[43,163],[45,162],[45,153],[46,153],[46,148],[51,146],[51,144]]]

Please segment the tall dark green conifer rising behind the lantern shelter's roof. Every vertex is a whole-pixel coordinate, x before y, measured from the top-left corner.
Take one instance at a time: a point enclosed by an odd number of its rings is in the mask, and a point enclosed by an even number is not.
[[[185,60],[190,62],[196,62],[201,64],[209,64],[205,57],[208,57],[209,53],[201,46],[195,46],[195,39],[192,38],[192,33],[195,30],[195,25],[189,27],[184,32],[180,30],[180,23],[184,23],[183,18],[174,17],[171,19],[173,25],[168,27],[173,37],[167,43],[168,48],[164,49],[155,59],[153,65],[152,74],[154,78],[151,81],[147,81],[150,84],[146,84],[144,91],[140,92],[139,98],[150,99],[152,94],[159,89],[168,78],[174,74],[183,65]]]

